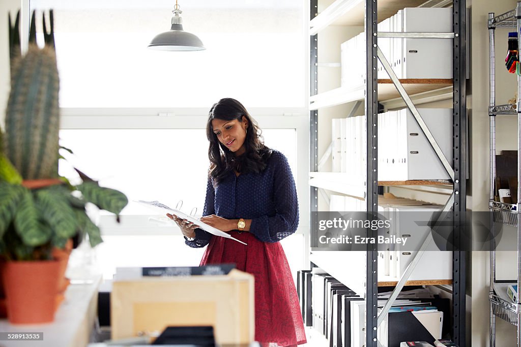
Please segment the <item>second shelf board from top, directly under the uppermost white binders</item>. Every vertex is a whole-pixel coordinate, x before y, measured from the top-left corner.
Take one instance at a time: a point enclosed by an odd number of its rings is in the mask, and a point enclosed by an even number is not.
[[[390,81],[390,80],[380,80]],[[403,82],[403,87],[410,97],[414,97],[416,94],[432,92],[440,89],[442,93],[445,93],[445,87],[452,86],[452,80],[402,80],[408,81]],[[436,82],[432,82],[436,81]],[[426,83],[424,83],[426,82]],[[313,95],[309,98],[311,104],[309,104],[310,110],[317,110],[320,108],[326,108],[331,106],[337,106],[347,104],[351,101],[363,100],[365,96],[365,86],[357,85],[351,87],[339,87]],[[392,83],[382,82],[378,85],[378,101],[386,101],[400,97],[398,90]]]

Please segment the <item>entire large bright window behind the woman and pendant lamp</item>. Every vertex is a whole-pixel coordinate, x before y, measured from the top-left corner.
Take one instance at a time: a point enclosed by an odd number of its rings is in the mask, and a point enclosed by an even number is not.
[[[303,266],[308,226],[308,3],[180,1],[184,29],[207,49],[147,49],[156,34],[169,30],[174,4],[30,0],[31,9],[54,9],[60,138],[75,153],[68,161],[130,200],[120,224],[108,214],[96,218],[106,241],[95,249],[104,277],[116,266],[199,262],[201,250],[185,247],[175,225],[132,200],[171,207],[183,200],[184,212],[197,207],[202,213],[206,114],[223,97],[240,100],[266,145],[290,161],[301,223],[282,244],[296,271]],[[65,162],[60,173],[75,176]]]

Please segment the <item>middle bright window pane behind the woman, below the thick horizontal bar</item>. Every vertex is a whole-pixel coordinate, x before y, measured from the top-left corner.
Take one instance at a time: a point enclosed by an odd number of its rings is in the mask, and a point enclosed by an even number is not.
[[[266,145],[278,149],[296,169],[294,129],[265,129]],[[201,215],[206,193],[208,140],[204,129],[61,130],[61,144],[74,155],[61,162],[60,174],[77,177],[72,165],[118,189],[129,198],[122,215],[157,214],[135,200],[158,200]],[[66,154],[66,153],[64,153]]]

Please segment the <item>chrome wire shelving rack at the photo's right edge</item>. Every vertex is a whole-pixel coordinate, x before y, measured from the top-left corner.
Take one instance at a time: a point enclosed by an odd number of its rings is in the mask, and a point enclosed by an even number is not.
[[[490,230],[492,239],[495,238],[495,224],[501,223],[517,228],[517,302],[512,303],[503,300],[494,293],[494,284],[499,284],[501,280],[496,278],[496,259],[495,243],[491,242],[490,251],[490,346],[495,346],[495,318],[499,317],[517,327],[517,346],[521,346],[521,327],[518,322],[521,320],[521,301],[519,301],[519,288],[521,287],[521,224],[518,214],[521,211],[521,190],[517,191],[517,203],[508,204],[494,201],[494,182],[496,177],[495,170],[495,116],[498,114],[516,115],[517,114],[517,151],[521,153],[521,76],[517,75],[517,105],[495,105],[495,29],[514,28],[517,30],[518,37],[521,37],[521,2],[512,11],[502,15],[494,16],[489,13],[489,59],[490,59],[490,200],[489,208],[492,214]],[[521,162],[517,163],[517,184],[519,186],[521,177]]]

